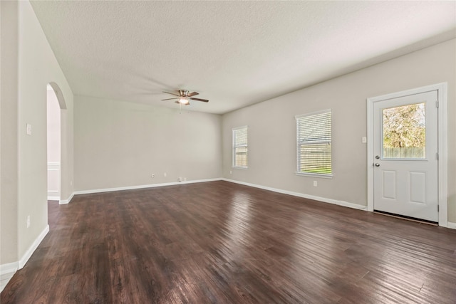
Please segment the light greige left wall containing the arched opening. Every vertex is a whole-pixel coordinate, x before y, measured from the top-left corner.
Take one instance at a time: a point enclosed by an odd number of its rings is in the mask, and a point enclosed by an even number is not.
[[[46,85],[59,88],[67,110],[63,195],[73,192],[73,93],[28,1],[1,5],[0,264],[25,263],[48,226]],[[26,135],[26,124],[32,135]],[[27,216],[31,226],[26,227]]]

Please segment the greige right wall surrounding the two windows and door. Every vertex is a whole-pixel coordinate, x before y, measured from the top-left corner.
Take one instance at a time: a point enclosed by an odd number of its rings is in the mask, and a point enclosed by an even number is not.
[[[456,222],[456,40],[222,116],[223,177],[367,206],[366,99],[448,83],[448,220]],[[333,178],[296,176],[295,115],[332,109]],[[249,169],[232,169],[232,128],[249,126]],[[232,174],[230,174],[230,170]],[[313,181],[318,187],[313,187]]]

